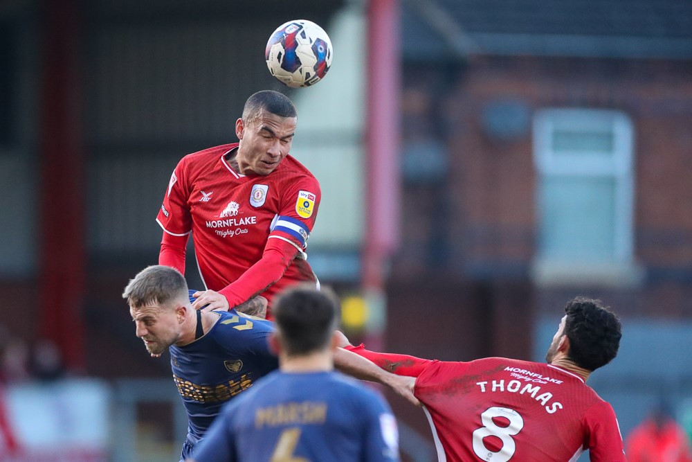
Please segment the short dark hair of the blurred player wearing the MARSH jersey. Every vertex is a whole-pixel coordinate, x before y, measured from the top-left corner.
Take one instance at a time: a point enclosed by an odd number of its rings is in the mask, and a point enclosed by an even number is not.
[[[272,313],[286,354],[307,355],[329,346],[340,305],[330,290],[297,286],[277,297]]]

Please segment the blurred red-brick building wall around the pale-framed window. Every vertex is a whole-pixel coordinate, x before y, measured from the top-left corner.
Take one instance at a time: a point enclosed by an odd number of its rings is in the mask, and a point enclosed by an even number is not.
[[[458,78],[441,78],[448,74],[405,71],[404,144],[442,140],[448,167],[435,181],[405,183],[395,278],[435,268],[459,281],[530,285],[533,115],[547,107],[617,109],[635,127],[635,259],[646,277],[630,289],[539,288],[538,312],[555,309],[554,294],[579,292],[621,301],[617,308],[632,315],[692,316],[692,62],[480,57]],[[491,134],[489,108],[508,101],[525,109],[525,120],[511,136]],[[435,246],[444,249],[437,261],[426,254]]]

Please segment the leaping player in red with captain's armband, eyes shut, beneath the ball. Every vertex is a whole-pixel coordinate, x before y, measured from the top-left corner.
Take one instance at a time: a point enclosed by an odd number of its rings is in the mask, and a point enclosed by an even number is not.
[[[228,310],[252,296],[273,296],[318,281],[304,249],[320,204],[317,179],[290,154],[298,123],[291,100],[277,91],[248,98],[235,122],[239,143],[183,157],[156,221],[163,228],[158,263],[185,274],[194,236],[206,291],[194,308]]]

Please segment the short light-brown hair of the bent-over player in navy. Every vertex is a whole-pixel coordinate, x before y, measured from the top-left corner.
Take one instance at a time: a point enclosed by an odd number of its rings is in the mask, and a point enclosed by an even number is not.
[[[188,283],[180,272],[172,267],[152,265],[134,276],[122,298],[133,308],[141,308],[149,303],[165,305],[172,300],[184,298],[189,300]]]

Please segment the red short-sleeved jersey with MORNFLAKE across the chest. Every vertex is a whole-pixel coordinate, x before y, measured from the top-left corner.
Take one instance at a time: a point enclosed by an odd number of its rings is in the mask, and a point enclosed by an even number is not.
[[[290,242],[298,257],[262,293],[271,301],[289,285],[317,281],[304,249],[315,224],[320,185],[290,155],[269,175],[239,175],[224,159],[237,145],[183,157],[156,221],[173,236],[192,232],[199,274],[206,288],[217,292],[262,258],[269,239]]]

